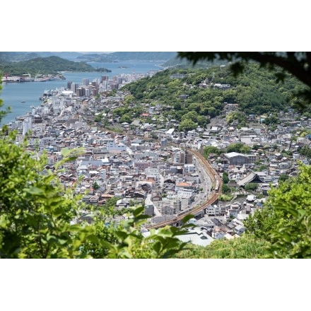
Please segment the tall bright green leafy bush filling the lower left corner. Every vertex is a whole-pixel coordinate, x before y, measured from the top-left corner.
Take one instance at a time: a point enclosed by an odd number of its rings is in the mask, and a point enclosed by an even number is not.
[[[37,161],[25,151],[26,142],[15,141],[14,133],[0,141],[0,257],[79,257],[81,240],[90,233],[70,224],[79,197],[45,169],[45,157]],[[66,158],[72,159],[71,152]]]

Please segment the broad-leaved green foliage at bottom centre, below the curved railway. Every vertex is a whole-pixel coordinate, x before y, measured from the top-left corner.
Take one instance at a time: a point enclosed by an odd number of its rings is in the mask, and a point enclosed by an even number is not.
[[[185,249],[186,243],[180,242],[178,235],[186,233],[189,225],[182,228],[165,227],[151,229],[150,235],[143,236],[141,225],[145,223],[144,208],[133,211],[133,216],[122,223],[111,221],[103,225],[102,217],[95,218],[93,235],[81,245],[83,257],[112,259],[170,258]]]

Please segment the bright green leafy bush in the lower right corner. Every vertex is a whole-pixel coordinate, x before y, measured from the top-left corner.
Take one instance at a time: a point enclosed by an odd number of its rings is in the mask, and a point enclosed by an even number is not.
[[[244,222],[249,233],[271,242],[270,257],[311,257],[310,186],[311,166],[300,165],[298,176],[271,189],[264,208]]]

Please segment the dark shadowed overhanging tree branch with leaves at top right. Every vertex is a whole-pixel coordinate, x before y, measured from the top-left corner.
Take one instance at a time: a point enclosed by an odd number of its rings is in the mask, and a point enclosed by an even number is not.
[[[185,58],[192,64],[196,64],[198,61],[229,61],[228,68],[233,76],[242,78],[248,74],[249,65],[255,61],[257,64],[254,65],[261,69],[259,73],[269,73],[270,79],[264,88],[263,85],[257,83],[257,77],[250,80],[250,85],[257,88],[254,88],[253,98],[245,98],[246,105],[244,108],[246,110],[248,105],[252,105],[253,100],[257,100],[262,111],[259,113],[263,113],[268,103],[265,101],[266,98],[273,100],[270,105],[274,104],[274,108],[277,110],[280,107],[279,103],[282,96],[287,97],[289,93],[291,93],[291,105],[303,110],[310,107],[310,52],[178,52],[178,57]],[[293,81],[299,83],[294,82],[292,90],[291,88],[280,88],[278,92],[272,91],[271,85],[273,83],[283,86],[286,83],[291,84]],[[279,96],[280,93],[281,97]]]

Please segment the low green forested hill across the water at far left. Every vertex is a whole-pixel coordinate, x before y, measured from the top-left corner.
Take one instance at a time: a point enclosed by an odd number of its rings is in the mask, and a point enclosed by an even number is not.
[[[20,76],[22,74],[57,74],[59,71],[103,71],[107,69],[94,69],[93,66],[81,61],[69,61],[61,57],[37,57],[28,61],[1,62],[0,75]]]

